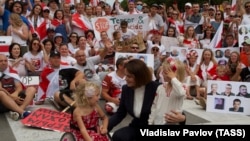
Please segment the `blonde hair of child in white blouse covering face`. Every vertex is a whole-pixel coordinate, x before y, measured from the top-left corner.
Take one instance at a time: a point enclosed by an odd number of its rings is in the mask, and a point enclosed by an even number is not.
[[[186,76],[186,70],[185,70],[185,64],[183,62],[181,62],[178,59],[171,59],[169,61],[169,59],[166,59],[163,64],[162,64],[163,68],[171,68],[172,70],[174,69],[173,67],[175,67],[176,70],[175,74],[176,74],[176,78],[180,81],[183,82]]]

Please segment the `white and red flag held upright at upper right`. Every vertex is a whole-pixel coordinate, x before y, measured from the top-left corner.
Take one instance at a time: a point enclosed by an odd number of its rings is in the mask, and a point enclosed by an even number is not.
[[[222,33],[223,33],[224,22],[220,23],[218,30],[216,31],[212,41],[209,44],[209,48],[221,48],[222,47]]]

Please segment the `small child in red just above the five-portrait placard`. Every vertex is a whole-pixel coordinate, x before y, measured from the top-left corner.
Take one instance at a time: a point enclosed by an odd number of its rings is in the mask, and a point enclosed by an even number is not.
[[[226,73],[226,66],[224,65],[217,66],[216,75],[213,76],[213,80],[230,81],[230,78]]]

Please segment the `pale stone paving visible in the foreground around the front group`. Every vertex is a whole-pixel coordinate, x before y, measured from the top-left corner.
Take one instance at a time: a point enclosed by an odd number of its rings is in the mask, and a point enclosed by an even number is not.
[[[103,106],[104,101],[100,102]],[[40,107],[53,108],[49,103],[43,106],[31,106],[29,110]],[[236,114],[206,112],[194,100],[184,100],[184,112],[187,117],[187,125],[250,125],[250,117]],[[128,125],[131,118],[126,117],[113,131]],[[13,121],[8,114],[0,114],[0,141],[59,141],[62,132],[48,131],[44,129],[24,126],[20,121]],[[112,132],[113,132],[112,131]],[[112,133],[111,132],[111,133]]]

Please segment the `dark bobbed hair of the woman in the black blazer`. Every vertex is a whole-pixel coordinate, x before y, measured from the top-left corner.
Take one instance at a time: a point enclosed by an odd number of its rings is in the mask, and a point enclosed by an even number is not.
[[[132,59],[125,64],[128,73],[134,75],[135,88],[141,87],[152,81],[152,72],[147,64],[140,59]]]

